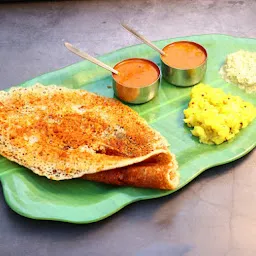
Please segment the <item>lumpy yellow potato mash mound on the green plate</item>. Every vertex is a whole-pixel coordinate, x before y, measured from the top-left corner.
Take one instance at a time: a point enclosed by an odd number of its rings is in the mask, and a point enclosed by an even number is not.
[[[235,137],[256,117],[256,108],[219,88],[198,84],[191,90],[184,122],[205,144],[221,144]]]

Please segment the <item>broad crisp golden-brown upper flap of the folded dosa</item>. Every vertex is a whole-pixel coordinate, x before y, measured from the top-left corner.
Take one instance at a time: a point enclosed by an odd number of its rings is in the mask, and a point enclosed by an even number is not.
[[[53,180],[170,154],[167,141],[131,108],[85,90],[54,85],[1,91],[0,135],[1,155]],[[168,162],[171,178],[177,180],[174,157],[163,164],[157,161],[160,169]]]

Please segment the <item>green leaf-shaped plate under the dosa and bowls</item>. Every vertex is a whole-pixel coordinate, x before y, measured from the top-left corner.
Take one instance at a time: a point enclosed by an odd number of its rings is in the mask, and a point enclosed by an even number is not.
[[[191,40],[208,51],[208,68],[204,82],[221,87],[256,105],[256,96],[248,95],[234,85],[225,83],[218,75],[227,54],[245,49],[256,50],[256,40],[226,35],[200,35],[156,42],[159,47],[175,40]],[[67,52],[67,54],[69,54]],[[102,56],[113,66],[129,57],[149,58],[159,64],[159,55],[145,45],[135,45]],[[57,84],[69,88],[84,88],[113,97],[111,76],[105,70],[82,61],[64,69],[42,75],[21,86],[36,82]],[[185,186],[204,170],[238,159],[256,145],[256,122],[244,129],[233,141],[220,146],[203,145],[193,137],[183,123],[183,110],[189,102],[191,88],[177,88],[162,81],[158,96],[149,103],[131,106],[155,129],[165,136],[179,162],[181,180]],[[8,205],[17,213],[33,218],[73,223],[90,223],[104,219],[124,206],[138,200],[165,196],[174,191],[159,191],[131,187],[113,187],[84,180],[50,181],[31,171],[0,158],[0,179]]]

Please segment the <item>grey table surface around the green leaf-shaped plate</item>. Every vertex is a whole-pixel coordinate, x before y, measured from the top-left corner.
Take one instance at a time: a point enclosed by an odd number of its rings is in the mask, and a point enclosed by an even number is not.
[[[57,1],[0,5],[0,88],[70,65],[67,40],[93,55],[152,40],[223,33],[256,37],[255,0]],[[174,195],[90,225],[36,221],[0,189],[0,255],[256,255],[256,151],[213,168]]]

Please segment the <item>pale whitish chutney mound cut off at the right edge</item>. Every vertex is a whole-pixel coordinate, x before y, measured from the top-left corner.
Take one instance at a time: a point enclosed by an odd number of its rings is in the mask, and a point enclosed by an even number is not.
[[[220,75],[248,93],[256,92],[256,52],[240,50],[227,56]]]

